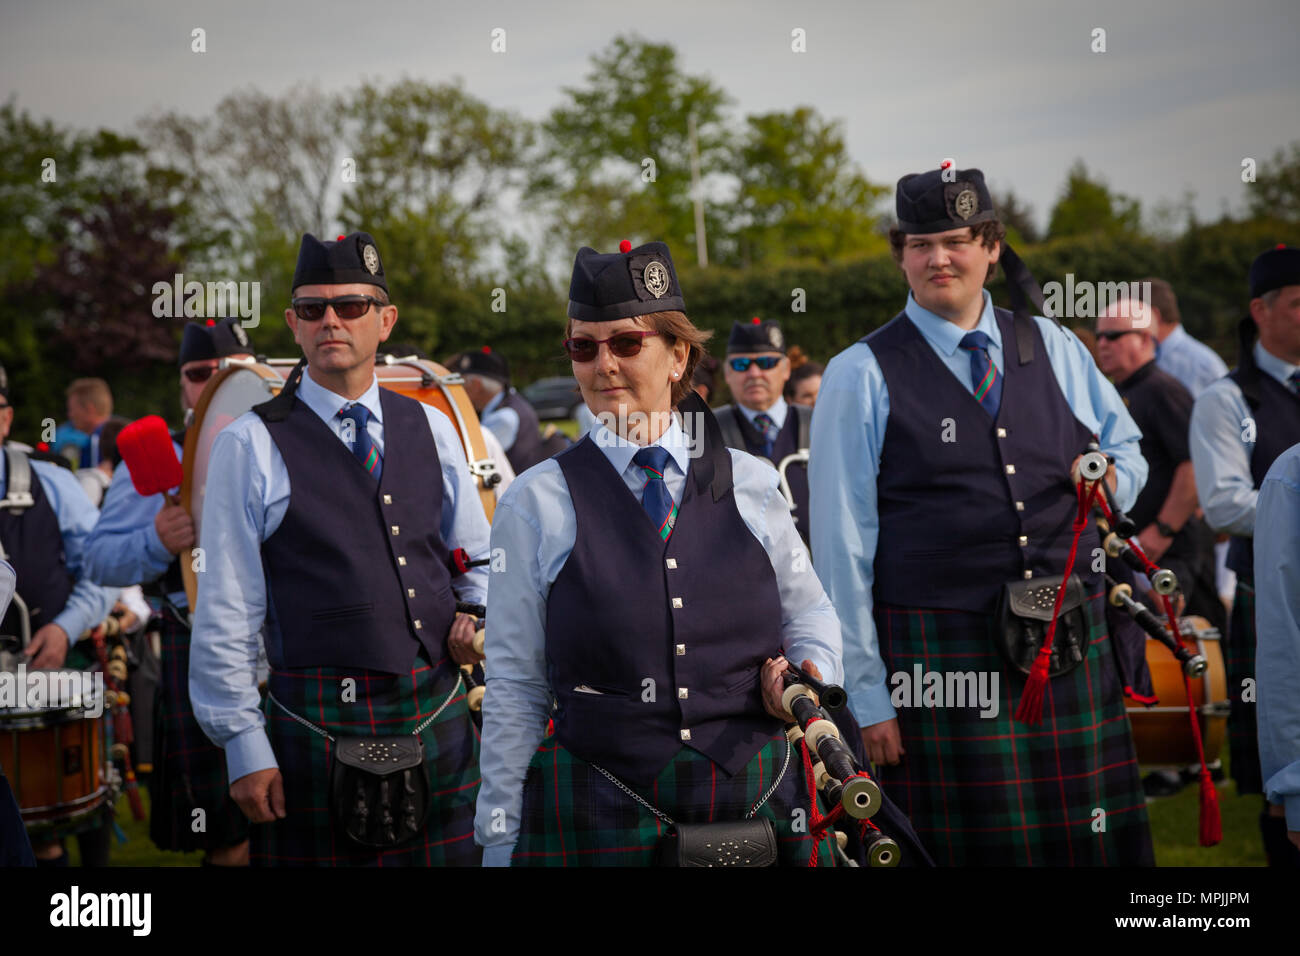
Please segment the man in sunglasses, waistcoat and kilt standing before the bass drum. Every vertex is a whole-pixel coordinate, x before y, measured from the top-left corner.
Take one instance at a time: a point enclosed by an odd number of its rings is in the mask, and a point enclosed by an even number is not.
[[[190,693],[255,865],[478,861],[456,601],[482,604],[488,575],[451,551],[485,557],[489,527],[450,419],[378,386],[396,319],[370,235],[304,235],[285,311],[303,362],[212,447]]]

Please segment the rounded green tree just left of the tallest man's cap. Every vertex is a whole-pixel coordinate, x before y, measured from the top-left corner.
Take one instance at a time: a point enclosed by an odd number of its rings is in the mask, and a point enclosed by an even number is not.
[[[811,107],[745,117],[731,172],[740,181],[732,243],[741,265],[885,248],[874,209],[888,189],[867,181],[840,124]]]

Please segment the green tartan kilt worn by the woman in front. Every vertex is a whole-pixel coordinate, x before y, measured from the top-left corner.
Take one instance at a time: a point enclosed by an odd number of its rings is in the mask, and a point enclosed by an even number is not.
[[[780,786],[757,816],[772,821],[780,865],[807,866],[812,852],[809,790],[801,752],[788,747],[784,734],[774,736],[732,777],[708,757],[682,747],[651,787],[633,790],[677,822],[741,819],[781,773],[786,750],[789,765]],[[533,754],[524,778],[524,809],[511,865],[650,866],[667,830],[662,819],[552,736]],[[820,843],[818,865],[837,865],[829,838]]]

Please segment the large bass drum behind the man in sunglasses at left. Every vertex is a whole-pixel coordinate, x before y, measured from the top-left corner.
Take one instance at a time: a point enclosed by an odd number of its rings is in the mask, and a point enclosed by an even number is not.
[[[222,428],[255,405],[278,395],[296,364],[298,359],[269,359],[265,363],[224,359],[221,368],[199,395],[194,420],[185,437],[185,480],[181,484],[181,503],[194,518],[196,540],[202,540],[203,533],[203,498],[212,442]],[[415,356],[380,355],[374,375],[380,380],[380,388],[432,405],[451,419],[465,450],[474,484],[478,486],[478,498],[488,520],[491,522],[497,510],[494,489],[500,481],[500,475],[495,462],[488,457],[478,415],[465,393],[464,380],[436,362]],[[185,578],[186,597],[190,600],[190,607],[194,607],[198,578],[192,562],[182,561],[181,572]]]

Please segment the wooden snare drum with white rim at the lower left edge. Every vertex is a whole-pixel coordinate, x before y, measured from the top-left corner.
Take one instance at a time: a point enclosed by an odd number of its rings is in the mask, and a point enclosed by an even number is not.
[[[82,819],[110,796],[100,692],[82,693],[87,684],[81,671],[27,671],[32,674],[61,675],[75,693],[60,706],[0,709],[0,767],[29,830]]]

